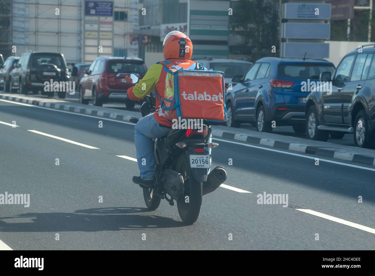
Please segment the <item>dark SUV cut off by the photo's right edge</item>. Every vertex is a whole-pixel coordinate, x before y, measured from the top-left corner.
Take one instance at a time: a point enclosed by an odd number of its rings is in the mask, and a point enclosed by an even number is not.
[[[375,44],[346,54],[333,76],[322,72],[320,81],[332,81],[332,91],[321,85],[306,99],[306,136],[327,141],[353,133],[354,145],[374,147]],[[322,91],[325,90],[325,91]],[[319,92],[320,91],[320,92]]]

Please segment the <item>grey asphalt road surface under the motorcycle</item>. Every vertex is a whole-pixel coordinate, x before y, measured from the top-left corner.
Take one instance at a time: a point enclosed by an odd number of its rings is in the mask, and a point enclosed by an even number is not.
[[[374,169],[214,139],[230,187],[186,226],[166,201],[148,211],[136,162],[116,156],[135,158],[132,124],[4,100],[0,121],[19,126],[0,123],[0,194],[30,194],[28,208],[0,205],[0,241],[14,250],[375,248]],[[288,207],[258,204],[263,192],[287,194]]]

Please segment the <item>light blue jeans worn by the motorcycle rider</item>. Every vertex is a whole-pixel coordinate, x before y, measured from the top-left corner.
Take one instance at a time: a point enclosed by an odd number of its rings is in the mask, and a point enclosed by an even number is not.
[[[139,175],[143,180],[155,179],[155,155],[154,142],[152,139],[166,136],[171,130],[167,127],[160,127],[159,123],[154,118],[154,113],[151,113],[140,119],[134,126],[134,141],[137,151],[137,162],[139,168]],[[212,135],[208,139],[211,143]],[[205,148],[211,154],[210,148]],[[211,158],[210,158],[211,162]]]

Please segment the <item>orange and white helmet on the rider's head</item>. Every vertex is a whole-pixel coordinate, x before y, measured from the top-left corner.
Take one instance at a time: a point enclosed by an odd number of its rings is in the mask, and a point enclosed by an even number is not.
[[[193,44],[184,33],[172,31],[163,41],[164,59],[191,59]]]

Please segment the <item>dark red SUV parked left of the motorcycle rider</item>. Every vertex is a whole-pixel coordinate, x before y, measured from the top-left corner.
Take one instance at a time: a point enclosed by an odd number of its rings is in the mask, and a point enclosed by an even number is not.
[[[147,68],[142,59],[137,57],[97,57],[78,86],[78,97],[82,104],[93,101],[94,106],[104,103],[125,103],[127,109],[133,109],[135,101],[127,98],[126,90],[134,86],[128,83],[124,76],[136,73],[141,78]]]

